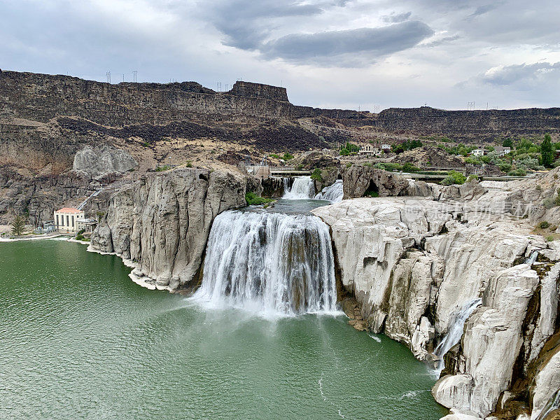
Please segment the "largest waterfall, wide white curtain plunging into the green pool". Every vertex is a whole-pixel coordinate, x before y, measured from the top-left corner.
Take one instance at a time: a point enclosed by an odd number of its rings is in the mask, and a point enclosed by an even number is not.
[[[328,226],[311,214],[223,212],[212,225],[202,286],[193,298],[263,316],[335,312]]]

